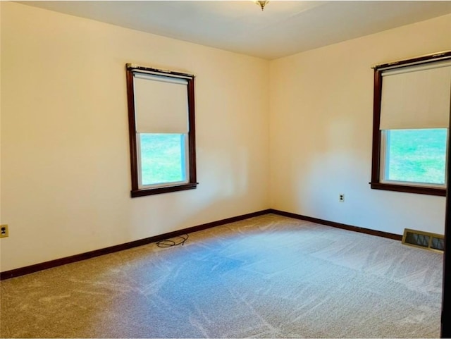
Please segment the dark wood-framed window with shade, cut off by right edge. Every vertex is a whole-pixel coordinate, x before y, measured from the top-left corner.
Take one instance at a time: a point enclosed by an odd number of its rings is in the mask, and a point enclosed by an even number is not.
[[[371,188],[446,195],[451,51],[374,68]]]

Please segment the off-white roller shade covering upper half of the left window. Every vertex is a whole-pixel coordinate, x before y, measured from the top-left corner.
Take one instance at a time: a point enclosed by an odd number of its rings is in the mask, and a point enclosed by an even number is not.
[[[187,80],[133,73],[136,131],[188,132]]]

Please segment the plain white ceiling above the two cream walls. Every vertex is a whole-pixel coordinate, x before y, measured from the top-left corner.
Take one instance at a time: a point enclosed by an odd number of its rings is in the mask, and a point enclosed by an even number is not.
[[[267,59],[451,13],[451,1],[18,2]]]

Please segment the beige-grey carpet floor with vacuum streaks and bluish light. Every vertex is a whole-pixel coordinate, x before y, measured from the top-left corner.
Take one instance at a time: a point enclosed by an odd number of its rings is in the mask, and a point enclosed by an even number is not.
[[[1,281],[2,338],[437,338],[443,255],[267,214]]]

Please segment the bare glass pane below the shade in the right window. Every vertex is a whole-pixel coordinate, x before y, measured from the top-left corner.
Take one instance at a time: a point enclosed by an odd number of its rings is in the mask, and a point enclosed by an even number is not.
[[[446,128],[385,132],[385,180],[445,184]]]

